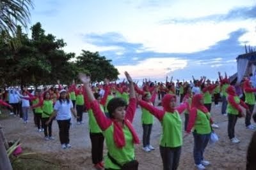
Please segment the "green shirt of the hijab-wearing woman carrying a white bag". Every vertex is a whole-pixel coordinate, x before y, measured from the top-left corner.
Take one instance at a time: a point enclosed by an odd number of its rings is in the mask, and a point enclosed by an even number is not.
[[[196,121],[194,125],[194,132],[197,134],[210,134],[211,133],[211,124],[210,124],[211,114],[204,113],[200,110],[197,110]]]

